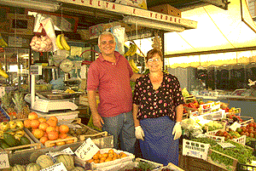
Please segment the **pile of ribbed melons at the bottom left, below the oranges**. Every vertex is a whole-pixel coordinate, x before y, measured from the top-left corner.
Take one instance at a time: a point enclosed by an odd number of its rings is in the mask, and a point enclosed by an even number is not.
[[[49,157],[47,155],[41,155],[39,157],[35,157],[35,159],[31,158],[31,161],[35,161],[35,162],[30,162],[29,164],[26,164],[26,165],[15,164],[15,166],[8,168],[8,170],[39,171],[44,168],[49,168],[57,163],[62,162],[65,168],[67,168],[67,171],[84,171],[84,168],[74,166],[73,156],[66,155],[66,154],[61,154],[55,157],[55,162],[52,157]]]

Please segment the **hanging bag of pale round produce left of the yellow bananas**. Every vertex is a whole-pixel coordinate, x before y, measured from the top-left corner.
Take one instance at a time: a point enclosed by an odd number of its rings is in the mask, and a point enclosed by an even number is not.
[[[36,52],[50,52],[52,51],[52,41],[50,38],[47,36],[44,27],[42,24],[40,24],[40,27],[38,31],[41,30],[40,32],[36,32],[35,36],[32,37],[32,41],[30,43],[30,46],[32,50]]]

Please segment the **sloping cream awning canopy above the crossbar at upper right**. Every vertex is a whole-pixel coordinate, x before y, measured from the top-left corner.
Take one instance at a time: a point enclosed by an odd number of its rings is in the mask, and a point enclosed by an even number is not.
[[[230,1],[228,10],[208,5],[182,16],[198,21],[197,28],[166,33],[166,57],[256,49],[256,25],[246,0]]]

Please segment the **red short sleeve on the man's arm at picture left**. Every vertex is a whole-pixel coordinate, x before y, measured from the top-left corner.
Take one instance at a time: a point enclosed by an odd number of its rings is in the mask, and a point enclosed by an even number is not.
[[[99,71],[96,63],[91,63],[87,77],[87,91],[96,90],[99,86]]]

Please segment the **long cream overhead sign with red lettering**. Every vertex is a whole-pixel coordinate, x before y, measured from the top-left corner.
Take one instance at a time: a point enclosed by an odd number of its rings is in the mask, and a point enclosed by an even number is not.
[[[187,29],[195,29],[197,22],[194,20],[182,19],[179,17],[172,16],[170,14],[161,14],[146,9],[138,9],[131,6],[122,5],[119,3],[110,3],[108,1],[99,0],[60,0],[63,3],[73,3],[82,5],[85,7],[104,9],[114,13],[126,14],[131,16],[143,17],[150,20],[163,21],[176,26],[183,26]]]

